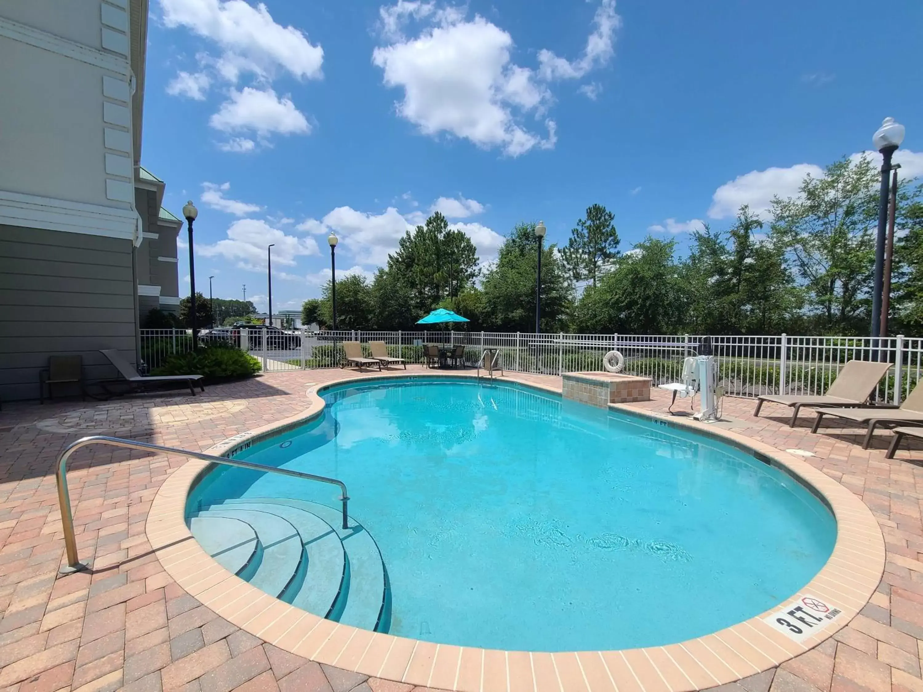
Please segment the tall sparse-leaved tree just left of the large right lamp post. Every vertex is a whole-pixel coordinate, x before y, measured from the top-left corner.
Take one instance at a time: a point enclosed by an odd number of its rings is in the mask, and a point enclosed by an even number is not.
[[[822,333],[868,333],[879,173],[866,156],[805,176],[798,197],[773,198],[773,237],[791,257]]]

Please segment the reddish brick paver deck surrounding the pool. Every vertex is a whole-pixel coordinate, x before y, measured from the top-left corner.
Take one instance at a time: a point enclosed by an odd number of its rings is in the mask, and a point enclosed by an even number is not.
[[[80,450],[70,491],[79,553],[93,571],[57,575],[64,542],[54,460],[66,444],[104,431],[205,449],[303,411],[311,383],[342,376],[341,370],[276,373],[211,387],[195,400],[170,393],[99,404],[6,404],[0,412],[0,687],[409,692],[409,685],[276,649],[174,583],[152,554],[144,528],[153,496],[183,458]],[[560,387],[557,377],[518,377]],[[654,397],[632,405],[664,411],[669,393]],[[725,686],[734,688],[727,692],[923,692],[923,469],[908,463],[923,459],[923,451],[905,447],[898,459],[884,459],[888,433],[863,450],[861,431],[831,427],[810,435],[811,416],[790,429],[787,409],[770,404],[754,419],[753,406],[751,400],[725,400],[731,422],[719,425],[773,447],[812,452],[809,463],[872,510],[888,558],[878,591],[849,626],[777,669]]]

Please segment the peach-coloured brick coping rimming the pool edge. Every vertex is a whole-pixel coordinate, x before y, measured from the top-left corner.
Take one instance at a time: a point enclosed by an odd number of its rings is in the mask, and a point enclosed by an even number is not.
[[[401,370],[316,385],[306,391],[309,405],[305,411],[234,435],[205,451],[223,456],[316,418],[325,407],[318,393],[325,389],[395,377],[476,375],[408,374]],[[561,394],[560,388],[519,379],[515,374],[496,381]],[[805,484],[831,508],[837,522],[836,543],[827,563],[808,584],[779,605],[704,637],[643,649],[549,653],[459,647],[371,632],[307,613],[258,590],[205,553],[186,527],[186,496],[210,469],[210,463],[205,461],[187,461],[162,484],[150,507],[147,536],[162,567],[182,589],[250,634],[312,661],[395,682],[458,692],[512,692],[520,688],[538,692],[545,682],[557,683],[552,686],[563,692],[685,692],[724,685],[813,649],[846,626],[868,603],[884,571],[884,539],[869,507],[845,486],[807,461],[746,435],[629,404],[610,404],[609,409],[705,433],[768,460]],[[842,614],[800,641],[786,637],[763,620],[792,607],[806,595],[832,603]]]

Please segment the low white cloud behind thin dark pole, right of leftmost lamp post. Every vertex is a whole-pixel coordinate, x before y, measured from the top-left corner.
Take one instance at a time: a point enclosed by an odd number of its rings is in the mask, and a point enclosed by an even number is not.
[[[266,221],[239,219],[227,230],[227,238],[214,245],[198,245],[198,254],[204,257],[224,257],[235,261],[237,267],[248,271],[265,271],[266,247],[272,248],[273,266],[295,265],[296,257],[319,255],[314,238],[298,238],[272,228]]]

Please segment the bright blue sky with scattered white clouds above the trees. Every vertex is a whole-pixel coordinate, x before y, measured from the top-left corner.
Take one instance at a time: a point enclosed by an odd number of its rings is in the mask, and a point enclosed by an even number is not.
[[[487,263],[517,221],[683,248],[904,124],[923,174],[923,5],[814,0],[151,0],[142,163],[187,198],[197,288],[296,308],[431,209]],[[885,60],[887,63],[885,64]],[[182,234],[185,236],[185,231]],[[180,275],[187,274],[186,247]],[[181,292],[184,290],[181,289]],[[187,291],[187,289],[186,289]]]

